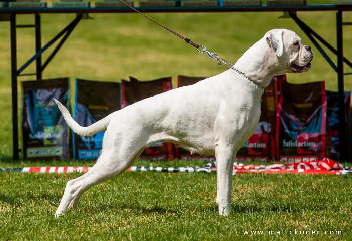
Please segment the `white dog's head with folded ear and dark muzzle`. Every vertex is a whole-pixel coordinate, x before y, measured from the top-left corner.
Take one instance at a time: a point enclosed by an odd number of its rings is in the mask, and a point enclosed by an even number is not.
[[[313,53],[309,45],[303,45],[301,38],[287,29],[272,29],[264,38],[269,45],[272,61],[276,67],[275,75],[303,73],[311,68]]]

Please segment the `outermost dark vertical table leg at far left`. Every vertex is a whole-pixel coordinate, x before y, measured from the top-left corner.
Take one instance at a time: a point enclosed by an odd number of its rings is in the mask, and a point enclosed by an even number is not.
[[[13,159],[18,160],[18,116],[17,116],[17,51],[16,14],[10,16],[11,41],[11,94],[12,94],[12,151]]]

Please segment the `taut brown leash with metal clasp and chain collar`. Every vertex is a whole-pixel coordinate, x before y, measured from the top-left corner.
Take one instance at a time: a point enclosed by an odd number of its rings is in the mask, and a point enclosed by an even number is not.
[[[182,38],[183,40],[185,40],[186,43],[189,43],[189,44],[191,44],[193,47],[195,47],[195,49],[196,49],[200,54],[206,53],[210,59],[214,59],[214,60],[218,61],[218,65],[221,65],[221,63],[223,63],[223,64],[227,65],[228,67],[230,67],[230,69],[232,69],[233,71],[235,71],[235,72],[237,72],[237,73],[243,75],[246,79],[248,79],[250,82],[252,82],[253,84],[255,84],[257,87],[263,88],[263,89],[265,88],[264,86],[260,85],[260,84],[257,83],[256,81],[254,81],[252,78],[249,78],[248,76],[246,76],[242,71],[236,69],[232,63],[230,63],[230,62],[228,62],[228,61],[226,61],[226,60],[224,60],[224,59],[221,59],[217,53],[207,51],[207,48],[206,48],[204,45],[202,45],[202,44],[197,44],[197,43],[193,42],[192,40],[190,40],[189,38],[186,38],[186,37],[182,36],[181,34],[175,32],[175,31],[172,30],[171,28],[168,28],[168,27],[165,26],[164,24],[159,23],[157,20],[155,20],[155,19],[153,19],[153,18],[147,16],[146,14],[144,14],[144,13],[140,12],[139,10],[133,8],[132,6],[126,4],[123,0],[119,0],[119,2],[121,2],[121,3],[124,4],[124,5],[126,5],[127,7],[129,7],[130,9],[132,9],[133,11],[135,11],[135,12],[137,12],[137,13],[140,13],[141,15],[143,15],[143,16],[146,17],[146,18],[148,18],[149,20],[152,20],[153,22],[155,22],[155,23],[158,24],[159,26],[161,26],[161,27],[165,28],[166,30],[168,30],[169,32],[175,34],[177,37]],[[203,47],[203,49],[202,49],[202,50],[199,50],[200,47]]]

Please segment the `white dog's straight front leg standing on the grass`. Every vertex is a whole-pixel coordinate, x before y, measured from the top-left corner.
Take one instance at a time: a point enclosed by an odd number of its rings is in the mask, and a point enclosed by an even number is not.
[[[219,207],[219,215],[227,216],[231,208],[231,188],[234,150],[232,147],[217,146],[216,175],[217,175],[217,197],[216,203]]]

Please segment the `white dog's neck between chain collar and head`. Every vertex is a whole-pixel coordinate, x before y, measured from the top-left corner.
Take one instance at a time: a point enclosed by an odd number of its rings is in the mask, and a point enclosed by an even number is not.
[[[267,44],[266,39],[262,38],[239,58],[234,67],[266,87],[277,72],[278,66],[273,61],[276,58],[277,56]]]

